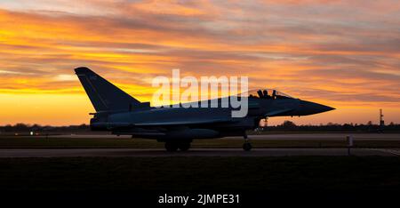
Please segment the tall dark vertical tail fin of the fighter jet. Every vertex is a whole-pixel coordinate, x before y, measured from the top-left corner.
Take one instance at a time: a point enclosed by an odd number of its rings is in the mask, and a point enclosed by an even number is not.
[[[75,73],[97,112],[131,110],[135,106],[142,106],[139,100],[132,98],[89,68],[75,68]]]

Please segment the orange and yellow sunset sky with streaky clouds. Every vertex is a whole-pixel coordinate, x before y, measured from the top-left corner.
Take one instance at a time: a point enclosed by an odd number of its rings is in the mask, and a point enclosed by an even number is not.
[[[0,124],[88,124],[80,66],[141,101],[180,68],[337,108],[269,124],[400,123],[400,2],[0,0]]]

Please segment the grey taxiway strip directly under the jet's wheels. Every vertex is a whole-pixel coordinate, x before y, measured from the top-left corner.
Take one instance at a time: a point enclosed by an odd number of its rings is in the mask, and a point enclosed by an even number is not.
[[[353,148],[353,156],[400,156],[400,149]],[[347,148],[193,148],[166,152],[162,148],[0,149],[0,157],[72,156],[348,156]]]

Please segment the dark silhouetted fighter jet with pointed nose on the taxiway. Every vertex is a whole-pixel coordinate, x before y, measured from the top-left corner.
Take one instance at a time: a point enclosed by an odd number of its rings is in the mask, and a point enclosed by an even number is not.
[[[96,110],[90,114],[92,131],[157,140],[164,142],[167,151],[186,151],[192,140],[228,136],[244,137],[243,148],[249,151],[252,144],[246,131],[257,128],[260,119],[308,116],[334,109],[269,89],[247,93],[248,113],[244,117],[232,117],[232,108],[158,108],[134,99],[89,68],[76,68],[75,72]]]

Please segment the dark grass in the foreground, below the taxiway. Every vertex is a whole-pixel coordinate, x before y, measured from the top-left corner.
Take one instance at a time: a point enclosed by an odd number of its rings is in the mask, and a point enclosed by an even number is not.
[[[1,190],[399,190],[400,158],[1,158]]]

